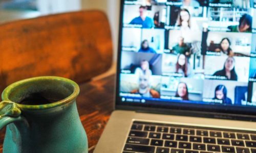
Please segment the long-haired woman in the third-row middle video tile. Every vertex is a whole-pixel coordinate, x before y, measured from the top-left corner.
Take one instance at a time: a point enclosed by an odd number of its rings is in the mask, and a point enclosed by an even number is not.
[[[176,73],[182,73],[183,77],[189,77],[191,74],[190,65],[187,62],[187,57],[184,54],[178,56],[176,63]]]

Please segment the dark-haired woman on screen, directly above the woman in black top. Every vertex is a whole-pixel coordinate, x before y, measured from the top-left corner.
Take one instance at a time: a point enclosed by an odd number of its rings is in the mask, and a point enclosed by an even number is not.
[[[228,38],[223,38],[220,42],[220,47],[215,49],[216,52],[227,56],[233,56],[233,51],[230,48],[230,40]]]

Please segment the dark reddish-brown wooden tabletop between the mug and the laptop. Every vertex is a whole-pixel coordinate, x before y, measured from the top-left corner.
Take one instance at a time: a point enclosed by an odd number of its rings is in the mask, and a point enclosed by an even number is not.
[[[77,108],[89,141],[89,152],[93,152],[103,129],[114,110],[114,75],[80,86]],[[3,152],[5,130],[0,132],[0,147]]]

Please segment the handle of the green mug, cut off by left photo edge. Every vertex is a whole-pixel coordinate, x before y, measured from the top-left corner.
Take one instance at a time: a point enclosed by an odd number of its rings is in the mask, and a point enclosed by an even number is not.
[[[21,113],[22,111],[15,103],[6,100],[2,101],[0,103],[0,130],[9,123],[22,119],[20,117]]]

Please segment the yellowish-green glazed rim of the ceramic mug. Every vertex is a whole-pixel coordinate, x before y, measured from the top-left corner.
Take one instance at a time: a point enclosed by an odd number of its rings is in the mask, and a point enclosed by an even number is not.
[[[66,97],[64,99],[55,101],[54,103],[44,104],[44,105],[23,105],[23,104],[15,103],[14,101],[9,99],[9,94],[11,93],[12,89],[17,87],[18,85],[33,82],[33,81],[39,81],[39,80],[63,81],[63,82],[71,84],[74,87],[74,91],[68,97]],[[79,89],[78,84],[70,79],[67,79],[67,78],[56,77],[56,76],[33,77],[33,78],[24,79],[24,80],[14,82],[11,85],[9,85],[8,87],[6,87],[2,93],[2,100],[11,101],[11,102],[15,103],[22,110],[45,110],[45,109],[55,108],[55,107],[70,103],[78,96],[79,91],[80,91],[80,89]]]

